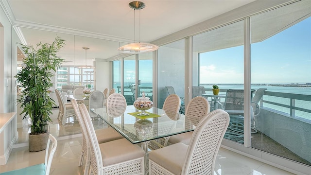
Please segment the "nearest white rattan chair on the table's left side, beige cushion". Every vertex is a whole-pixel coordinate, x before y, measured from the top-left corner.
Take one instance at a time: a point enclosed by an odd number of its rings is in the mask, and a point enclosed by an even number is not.
[[[94,175],[144,175],[145,152],[126,139],[98,143],[92,121],[84,104],[79,105],[85,121],[87,147],[90,151],[91,169]]]

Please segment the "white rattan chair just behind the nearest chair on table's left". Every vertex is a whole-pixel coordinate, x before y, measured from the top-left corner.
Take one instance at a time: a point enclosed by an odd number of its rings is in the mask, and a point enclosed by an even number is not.
[[[77,119],[78,119],[78,122],[79,122],[79,125],[81,128],[81,132],[82,132],[82,150],[81,150],[81,155],[80,155],[80,160],[79,160],[79,166],[83,165],[83,160],[84,160],[84,158],[86,158],[84,175],[88,175],[91,160],[89,159],[90,157],[87,156],[87,154],[89,154],[89,153],[87,153],[87,144],[88,144],[87,141],[88,141],[88,139],[86,138],[87,137],[86,136],[86,128],[85,128],[84,120],[82,119],[77,101],[72,99],[71,104],[72,104],[74,111],[76,113],[76,116],[77,116]],[[118,139],[124,138],[119,132],[117,132],[116,130],[114,130],[111,127],[97,129],[97,130],[95,130],[95,134],[96,134],[96,138],[97,138],[99,143],[104,143],[104,142],[108,142],[111,140],[118,140]]]

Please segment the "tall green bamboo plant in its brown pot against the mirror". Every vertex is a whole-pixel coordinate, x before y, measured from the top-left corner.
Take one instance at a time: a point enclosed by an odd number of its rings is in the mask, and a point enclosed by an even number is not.
[[[48,123],[51,122],[52,105],[54,102],[49,96],[49,88],[53,87],[53,71],[56,71],[64,61],[56,54],[64,45],[64,40],[59,36],[49,43],[38,43],[36,46],[21,45],[21,51],[25,53],[22,69],[15,78],[24,88],[17,103],[23,108],[23,119],[29,116],[31,120],[31,133],[29,134],[29,151],[41,151],[46,149],[49,133]]]

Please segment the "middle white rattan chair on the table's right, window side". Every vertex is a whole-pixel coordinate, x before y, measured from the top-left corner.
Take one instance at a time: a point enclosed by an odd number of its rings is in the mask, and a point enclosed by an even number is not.
[[[192,125],[196,126],[201,119],[209,113],[210,105],[204,97],[194,97],[190,100],[186,108],[185,116],[187,121],[186,128],[192,128]],[[175,144],[182,142],[186,145],[189,144],[193,131],[171,136],[167,144]],[[164,145],[166,146],[166,145]]]

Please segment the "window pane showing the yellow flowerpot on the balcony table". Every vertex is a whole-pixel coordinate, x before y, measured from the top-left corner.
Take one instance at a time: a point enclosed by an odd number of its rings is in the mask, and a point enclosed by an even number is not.
[[[244,88],[244,35],[243,21],[238,21],[199,35],[192,39],[192,96],[204,96],[210,102],[210,110],[231,110],[231,124],[225,139],[243,143],[243,88]],[[212,86],[220,89],[218,95]],[[197,86],[205,88],[198,94]],[[231,89],[230,91],[227,91]],[[234,89],[234,90],[232,90]],[[236,97],[232,103],[229,96]],[[234,105],[233,105],[234,104]],[[239,113],[235,111],[239,110]],[[247,116],[247,115],[246,115]],[[236,121],[235,121],[236,120]],[[233,124],[235,122],[235,124]]]

